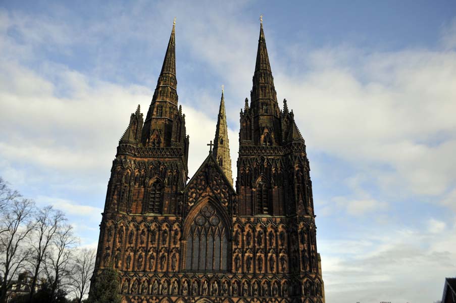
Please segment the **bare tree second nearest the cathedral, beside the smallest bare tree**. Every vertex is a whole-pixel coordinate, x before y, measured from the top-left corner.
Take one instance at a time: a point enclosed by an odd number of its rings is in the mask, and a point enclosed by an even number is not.
[[[78,243],[73,235],[73,227],[69,224],[60,225],[53,239],[53,252],[46,262],[48,281],[52,281],[50,299],[54,301],[57,290],[68,285],[68,279],[73,274],[71,257]]]

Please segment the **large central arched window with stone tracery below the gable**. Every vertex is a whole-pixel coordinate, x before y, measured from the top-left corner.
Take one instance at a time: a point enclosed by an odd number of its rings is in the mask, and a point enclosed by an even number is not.
[[[223,271],[228,264],[227,228],[215,208],[201,208],[187,234],[185,269]]]

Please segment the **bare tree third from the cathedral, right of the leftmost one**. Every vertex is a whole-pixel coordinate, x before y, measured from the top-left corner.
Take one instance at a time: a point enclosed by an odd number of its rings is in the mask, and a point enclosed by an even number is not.
[[[42,270],[42,263],[45,261],[46,254],[49,252],[49,246],[52,245],[60,225],[66,220],[65,215],[61,211],[53,209],[52,206],[46,206],[36,212],[36,224],[30,237],[32,280],[29,300],[32,299],[35,292],[38,276]]]

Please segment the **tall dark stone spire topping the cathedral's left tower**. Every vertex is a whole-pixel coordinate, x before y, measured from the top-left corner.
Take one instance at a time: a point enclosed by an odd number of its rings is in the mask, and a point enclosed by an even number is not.
[[[144,145],[147,145],[150,136],[156,129],[160,130],[164,124],[172,122],[178,111],[175,31],[176,19],[174,19],[173,29],[166,49],[165,59],[163,60],[162,70],[157,81],[157,87],[155,88],[154,96],[152,97],[152,102],[145,118],[141,139]],[[168,120],[168,122],[158,122],[159,120]],[[160,125],[155,125],[157,123]],[[163,129],[162,131],[163,135],[165,135],[169,130]],[[169,140],[169,138],[165,138],[165,141]]]

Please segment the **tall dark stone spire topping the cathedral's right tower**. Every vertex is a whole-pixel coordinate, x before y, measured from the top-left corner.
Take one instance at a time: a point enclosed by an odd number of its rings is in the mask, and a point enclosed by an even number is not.
[[[254,115],[267,114],[279,116],[277,93],[274,87],[271,65],[269,63],[268,49],[266,48],[263,19],[260,24],[260,38],[258,39],[257,62],[250,92],[251,108]]]

